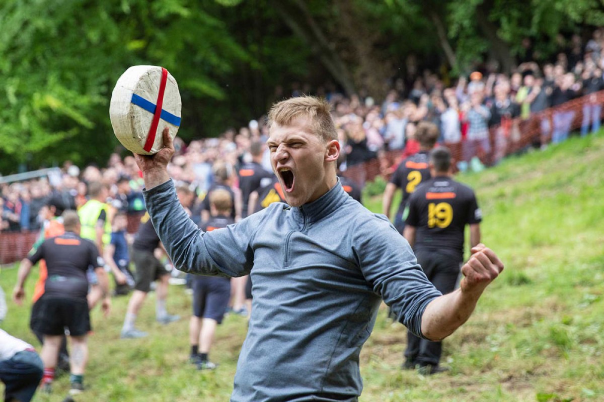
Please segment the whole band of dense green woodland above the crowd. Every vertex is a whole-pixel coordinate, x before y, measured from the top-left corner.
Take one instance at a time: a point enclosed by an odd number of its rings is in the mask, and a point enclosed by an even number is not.
[[[489,65],[553,60],[604,25],[598,0],[4,0],[0,173],[104,165],[115,81],[169,69],[179,136],[217,136],[295,90],[370,95],[424,69],[447,80]],[[525,41],[526,42],[526,41]]]

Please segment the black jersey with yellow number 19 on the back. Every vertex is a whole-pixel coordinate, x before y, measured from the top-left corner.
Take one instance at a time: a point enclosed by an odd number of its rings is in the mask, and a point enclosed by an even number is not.
[[[438,251],[463,260],[464,227],[482,214],[474,191],[449,177],[435,177],[410,196],[406,224],[417,228],[414,250]]]

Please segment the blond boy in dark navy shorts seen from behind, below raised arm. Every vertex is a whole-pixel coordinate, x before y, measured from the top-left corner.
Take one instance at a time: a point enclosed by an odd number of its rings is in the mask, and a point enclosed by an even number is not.
[[[210,194],[212,218],[204,231],[213,231],[233,224],[230,216],[231,198],[226,190],[217,189]],[[216,333],[216,325],[222,322],[231,298],[230,278],[193,275],[193,316],[189,325],[191,342],[190,362],[200,370],[214,369],[216,364],[208,360],[210,347]]]

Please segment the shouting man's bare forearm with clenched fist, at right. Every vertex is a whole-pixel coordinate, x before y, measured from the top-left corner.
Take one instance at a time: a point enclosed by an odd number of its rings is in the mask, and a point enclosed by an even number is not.
[[[472,248],[472,257],[461,268],[460,288],[432,300],[423,312],[422,333],[432,341],[452,334],[470,318],[484,289],[503,271],[503,263],[483,244]]]

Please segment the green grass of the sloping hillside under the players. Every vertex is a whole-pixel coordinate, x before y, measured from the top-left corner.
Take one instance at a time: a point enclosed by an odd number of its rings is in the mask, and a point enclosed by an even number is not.
[[[458,176],[483,209],[483,242],[506,264],[472,318],[446,339],[447,374],[400,371],[405,328],[385,310],[361,354],[361,401],[602,401],[604,400],[604,136],[573,138],[543,152],[512,157],[480,174]],[[381,212],[381,197],[367,199]],[[35,274],[34,274],[35,276]],[[8,293],[15,269],[0,284]],[[33,278],[28,286],[31,295]],[[186,318],[190,298],[171,287],[169,310]],[[89,390],[78,401],[226,401],[233,387],[245,320],[228,316],[211,354],[214,372],[185,363],[187,321],[154,321],[154,297],[143,307],[144,340],[120,340],[126,298],[113,312],[95,311],[86,372]],[[29,306],[9,303],[2,324],[33,342]],[[59,378],[60,400],[68,379]]]

